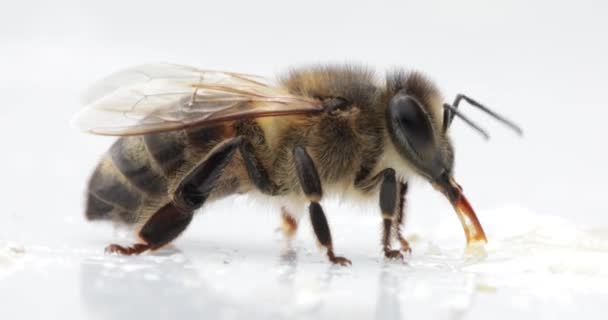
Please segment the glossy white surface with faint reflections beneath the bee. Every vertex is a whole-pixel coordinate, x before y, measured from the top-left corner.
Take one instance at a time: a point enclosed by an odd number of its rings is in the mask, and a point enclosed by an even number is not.
[[[437,227],[409,232],[413,254],[402,263],[382,258],[378,216],[334,214],[336,250],[353,261],[345,268],[329,265],[316,249],[307,221],[287,246],[273,230],[278,217],[233,200],[211,206],[214,212],[197,216],[175,245],[154,254],[105,255],[109,241],[129,239],[83,221],[47,224],[63,230],[51,243],[5,243],[0,315],[600,319],[608,303],[608,232],[582,231],[561,218],[518,208],[486,211],[490,242],[467,252],[456,218],[446,212]],[[244,208],[256,212],[236,212]]]

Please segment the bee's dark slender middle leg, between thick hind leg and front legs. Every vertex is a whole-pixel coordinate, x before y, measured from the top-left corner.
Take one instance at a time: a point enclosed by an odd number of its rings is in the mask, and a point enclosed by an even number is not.
[[[323,196],[323,190],[315,164],[308,153],[306,153],[306,150],[300,146],[294,148],[293,157],[300,186],[306,197],[308,197],[308,200],[310,200],[308,211],[317,240],[327,249],[329,261],[342,266],[351,264],[350,260],[334,254],[327,218],[325,217],[323,208],[319,204],[319,201],[321,201],[321,197]]]

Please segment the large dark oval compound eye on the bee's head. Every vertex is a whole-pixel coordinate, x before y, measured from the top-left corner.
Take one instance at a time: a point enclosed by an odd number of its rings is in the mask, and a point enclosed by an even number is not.
[[[430,160],[435,136],[429,116],[422,106],[405,93],[396,94],[389,104],[389,118],[399,143],[407,144],[421,160]]]

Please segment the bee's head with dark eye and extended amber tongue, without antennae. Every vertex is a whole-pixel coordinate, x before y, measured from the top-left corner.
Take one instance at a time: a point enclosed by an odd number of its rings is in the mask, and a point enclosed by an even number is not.
[[[418,73],[397,73],[387,84],[385,117],[394,149],[408,167],[448,198],[463,223],[467,242],[484,242],[481,225],[453,178],[453,148],[443,124],[448,117],[438,90]]]

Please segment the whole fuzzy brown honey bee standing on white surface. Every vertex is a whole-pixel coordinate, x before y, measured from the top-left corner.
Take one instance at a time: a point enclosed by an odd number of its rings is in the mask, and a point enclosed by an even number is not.
[[[313,230],[338,264],[319,205],[324,193],[379,194],[386,257],[395,236],[409,250],[400,225],[407,181],[420,176],[447,196],[467,242],[485,241],[475,213],[452,178],[447,129],[465,100],[443,103],[419,73],[397,71],[377,83],[360,67],[297,69],[277,85],[245,74],[168,64],[145,65],[103,81],[77,117],[81,128],[122,136],[89,182],[86,216],[139,230],[141,243],[107,250],[155,250],[186,229],[207,200],[261,193],[280,201],[285,231],[308,204]],[[302,205],[302,207],[300,207]],[[294,215],[295,214],[295,215]]]

